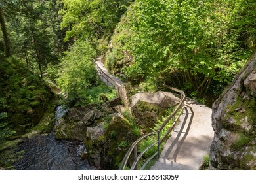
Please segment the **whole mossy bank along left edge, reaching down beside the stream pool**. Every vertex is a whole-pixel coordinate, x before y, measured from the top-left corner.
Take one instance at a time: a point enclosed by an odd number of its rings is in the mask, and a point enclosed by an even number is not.
[[[51,129],[56,97],[39,75],[28,71],[18,59],[0,61],[0,114],[7,114],[0,118],[0,131],[6,132],[0,133],[0,167],[12,169],[12,163],[22,156],[16,151],[22,135]],[[47,117],[43,118],[46,111]]]

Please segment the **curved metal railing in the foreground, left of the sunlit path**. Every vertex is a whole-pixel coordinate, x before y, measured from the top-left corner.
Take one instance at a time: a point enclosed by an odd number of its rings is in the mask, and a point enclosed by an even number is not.
[[[184,100],[186,98],[186,95],[182,90],[179,90],[177,88],[173,88],[173,87],[167,86],[165,84],[163,86],[165,86],[166,88],[169,88],[172,91],[180,93],[180,99],[179,99],[180,102],[179,102],[178,107],[165,120],[165,122],[163,122],[163,124],[157,130],[152,131],[152,132],[150,132],[146,135],[143,135],[142,137],[137,139],[137,141],[133,142],[133,144],[131,145],[131,147],[129,148],[127,153],[125,154],[125,157],[123,158],[123,161],[121,162],[121,165],[119,166],[119,170],[125,169],[132,153],[133,153],[133,160],[132,160],[130,169],[131,170],[137,169],[137,164],[138,164],[139,160],[142,158],[142,156],[145,154],[145,152],[147,152],[152,146],[157,145],[157,150],[150,158],[146,159],[146,161],[142,165],[141,169],[144,169],[146,167],[146,165],[150,162],[150,160],[152,160],[154,157],[157,156],[159,158],[160,157],[160,146],[161,146],[161,144],[167,139],[167,137],[169,136],[169,134],[171,133],[171,131],[173,130],[175,125],[177,125],[177,123],[179,122],[179,117],[181,116],[182,111],[184,109]],[[173,125],[171,125],[171,127],[169,127],[169,129],[167,129],[167,132],[165,134],[161,135],[161,132],[166,127],[166,125],[171,122],[171,120],[173,120]],[[142,150],[142,152],[138,152],[139,142],[141,142],[143,139],[146,139],[150,135],[156,135],[156,141],[153,142],[152,144],[150,144],[149,146],[147,146],[146,148],[144,148],[144,150]],[[161,137],[160,137],[160,135],[161,135]]]

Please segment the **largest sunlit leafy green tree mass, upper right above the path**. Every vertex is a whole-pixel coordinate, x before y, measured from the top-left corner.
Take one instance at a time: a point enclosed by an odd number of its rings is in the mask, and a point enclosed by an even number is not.
[[[253,39],[249,14],[255,16],[255,3],[242,2],[135,1],[116,27],[116,47],[107,58],[112,58],[115,49],[127,50],[133,64],[123,71],[130,80],[160,78],[203,97],[211,82],[224,86],[230,82],[251,54],[242,40],[244,35]],[[251,28],[250,33],[240,21]]]

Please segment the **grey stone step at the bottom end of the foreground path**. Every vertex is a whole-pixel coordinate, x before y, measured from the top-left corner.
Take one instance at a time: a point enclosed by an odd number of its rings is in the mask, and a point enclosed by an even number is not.
[[[150,170],[196,170],[196,168],[159,158]]]

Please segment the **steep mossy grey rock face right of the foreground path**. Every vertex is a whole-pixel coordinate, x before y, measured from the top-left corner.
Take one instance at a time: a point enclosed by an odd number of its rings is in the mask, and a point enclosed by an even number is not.
[[[213,103],[210,169],[256,169],[256,54]]]

